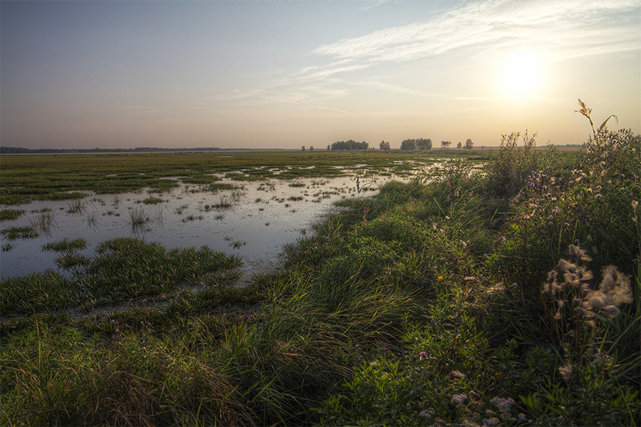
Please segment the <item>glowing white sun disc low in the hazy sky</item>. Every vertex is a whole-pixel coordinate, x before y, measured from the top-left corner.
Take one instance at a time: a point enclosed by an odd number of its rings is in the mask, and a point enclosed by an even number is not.
[[[514,98],[527,98],[541,89],[541,58],[533,52],[518,51],[504,59],[501,88]]]

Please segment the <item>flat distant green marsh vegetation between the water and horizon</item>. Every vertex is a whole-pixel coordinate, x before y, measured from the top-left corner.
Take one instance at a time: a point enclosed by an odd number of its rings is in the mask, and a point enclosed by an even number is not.
[[[365,153],[367,153],[365,155]],[[111,153],[94,155],[2,155],[0,156],[0,203],[19,205],[31,200],[78,200],[98,195],[147,189],[162,193],[179,184],[224,190],[219,175],[238,181],[332,178],[347,175],[356,165],[368,170],[392,168],[398,160],[426,164],[436,161],[427,152],[352,150],[331,153],[315,151],[244,151],[208,153]],[[269,168],[266,168],[269,165]],[[363,166],[360,166],[361,168]],[[155,202],[160,197],[150,197]],[[75,205],[75,207],[80,207]],[[70,210],[72,206],[70,205]],[[81,212],[81,210],[79,211]],[[3,215],[11,215],[9,213]]]

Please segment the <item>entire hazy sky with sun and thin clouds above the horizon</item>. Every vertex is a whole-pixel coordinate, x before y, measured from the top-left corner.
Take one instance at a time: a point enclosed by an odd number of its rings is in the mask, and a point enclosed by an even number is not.
[[[641,132],[641,0],[0,1],[0,145]]]

